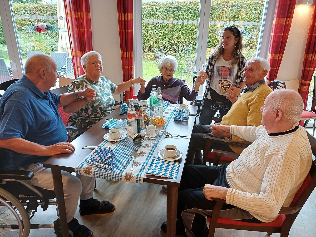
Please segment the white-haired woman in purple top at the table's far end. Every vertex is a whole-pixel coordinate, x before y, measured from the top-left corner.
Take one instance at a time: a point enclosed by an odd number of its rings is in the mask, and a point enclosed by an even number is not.
[[[158,69],[161,72],[161,76],[151,78],[146,87],[145,85],[141,86],[137,94],[138,100],[147,100],[152,86],[156,85],[157,88],[161,87],[163,100],[169,101],[172,104],[180,104],[180,95],[188,101],[193,101],[197,97],[199,86],[205,82],[205,76],[198,76],[193,91],[191,91],[184,81],[174,78],[173,73],[178,69],[178,61],[170,55],[159,60]]]

